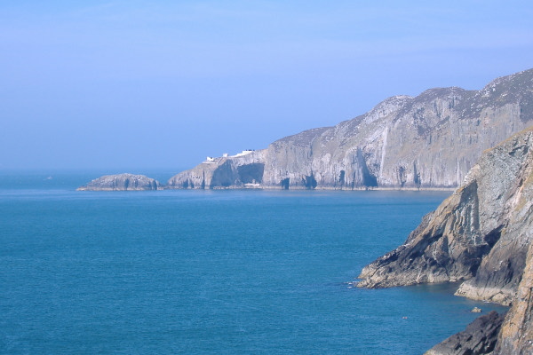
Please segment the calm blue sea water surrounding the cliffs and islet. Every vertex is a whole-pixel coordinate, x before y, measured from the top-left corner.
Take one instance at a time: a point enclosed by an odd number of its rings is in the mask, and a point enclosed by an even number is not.
[[[75,191],[98,176],[0,173],[0,353],[421,354],[505,311],[352,287],[449,193]]]

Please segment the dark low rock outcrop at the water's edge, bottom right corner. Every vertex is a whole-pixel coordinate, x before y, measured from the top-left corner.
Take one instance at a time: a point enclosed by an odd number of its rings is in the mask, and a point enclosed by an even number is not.
[[[466,329],[438,343],[425,355],[481,355],[494,351],[504,315],[492,311],[474,319]]]

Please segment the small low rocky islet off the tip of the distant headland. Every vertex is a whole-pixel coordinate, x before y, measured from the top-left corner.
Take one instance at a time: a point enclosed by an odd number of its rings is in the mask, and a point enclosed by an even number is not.
[[[117,174],[106,175],[92,180],[89,184],[79,187],[78,191],[140,191],[159,190],[157,180],[144,175]]]

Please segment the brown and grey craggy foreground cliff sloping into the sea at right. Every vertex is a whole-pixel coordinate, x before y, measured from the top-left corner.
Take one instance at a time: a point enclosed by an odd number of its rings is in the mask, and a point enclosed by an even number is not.
[[[499,330],[494,353],[530,354],[531,241],[533,127],[482,154],[464,183],[423,218],[402,246],[363,268],[358,287],[462,281],[457,296],[512,304]],[[455,339],[460,338],[457,335]],[[487,353],[454,352],[457,347],[448,346],[454,342],[447,340],[430,353]],[[474,344],[487,350],[490,346],[486,345],[482,341]]]

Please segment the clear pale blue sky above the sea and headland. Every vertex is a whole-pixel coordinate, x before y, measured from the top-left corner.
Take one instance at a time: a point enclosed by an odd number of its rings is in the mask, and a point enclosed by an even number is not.
[[[189,169],[533,67],[528,1],[0,1],[0,170]]]

